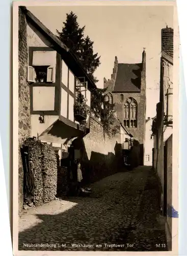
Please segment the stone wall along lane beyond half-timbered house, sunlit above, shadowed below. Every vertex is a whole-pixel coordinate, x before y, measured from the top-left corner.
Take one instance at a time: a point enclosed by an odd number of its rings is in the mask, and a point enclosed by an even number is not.
[[[90,119],[90,133],[73,144],[81,149],[83,177],[87,183],[119,172],[123,166],[120,133],[106,134],[94,117]]]

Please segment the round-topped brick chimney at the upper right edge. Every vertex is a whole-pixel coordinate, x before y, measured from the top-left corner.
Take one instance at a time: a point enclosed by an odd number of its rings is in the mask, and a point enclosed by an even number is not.
[[[162,29],[162,51],[173,57],[173,29],[168,26]]]

